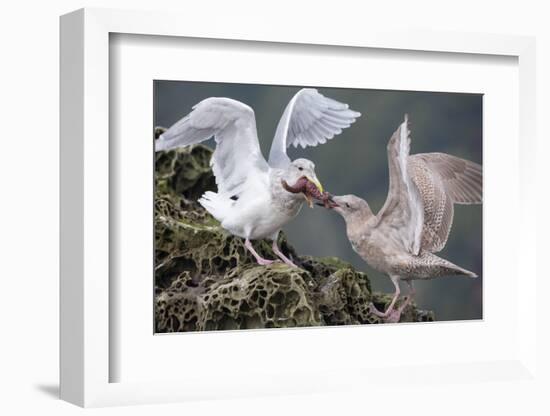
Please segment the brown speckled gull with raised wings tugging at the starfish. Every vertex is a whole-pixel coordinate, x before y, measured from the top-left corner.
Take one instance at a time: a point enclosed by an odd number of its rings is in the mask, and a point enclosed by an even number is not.
[[[454,204],[482,202],[481,166],[444,153],[409,155],[408,117],[388,142],[390,186],[384,206],[374,215],[366,201],[346,195],[334,197],[333,209],[346,221],[353,249],[376,270],[387,274],[395,294],[385,312],[374,313],[397,322],[414,293],[412,281],[440,276],[477,277],[441,257],[453,222]],[[411,296],[395,308],[399,281]]]

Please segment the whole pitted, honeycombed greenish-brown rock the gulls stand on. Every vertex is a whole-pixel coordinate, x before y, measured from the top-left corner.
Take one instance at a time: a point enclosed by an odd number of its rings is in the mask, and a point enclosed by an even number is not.
[[[156,132],[160,133],[160,132]],[[155,326],[157,332],[378,323],[367,276],[336,258],[298,256],[283,233],[279,246],[299,268],[260,266],[242,239],[225,231],[197,202],[215,190],[212,151],[197,145],[156,155]],[[253,243],[272,258],[270,244]],[[414,306],[401,321],[433,320]]]

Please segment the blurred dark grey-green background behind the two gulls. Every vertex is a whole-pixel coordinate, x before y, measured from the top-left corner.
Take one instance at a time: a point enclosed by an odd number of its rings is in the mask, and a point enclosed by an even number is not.
[[[302,87],[155,81],[154,125],[169,127],[199,101],[229,97],[256,113],[260,146],[268,157],[279,118]],[[289,148],[291,159],[305,157],[316,165],[317,176],[335,195],[356,194],[377,212],[386,199],[386,144],[403,121],[411,122],[411,154],[444,152],[482,161],[482,95],[417,91],[319,88],[322,94],[362,114],[349,129],[324,145]],[[206,143],[213,147],[214,142]],[[301,254],[337,256],[366,271],[375,290],[393,292],[389,278],[370,268],[351,248],[344,221],[334,212],[304,205],[284,231]],[[437,320],[482,318],[482,206],[455,206],[453,228],[439,255],[477,273],[478,279],[444,277],[415,282],[420,308],[435,311]],[[404,292],[406,288],[404,287]]]

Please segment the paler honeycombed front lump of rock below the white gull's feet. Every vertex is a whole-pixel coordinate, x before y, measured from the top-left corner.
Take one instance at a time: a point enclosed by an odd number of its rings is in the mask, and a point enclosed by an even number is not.
[[[248,265],[200,285],[182,273],[157,297],[157,329],[193,331],[321,325],[306,272]]]

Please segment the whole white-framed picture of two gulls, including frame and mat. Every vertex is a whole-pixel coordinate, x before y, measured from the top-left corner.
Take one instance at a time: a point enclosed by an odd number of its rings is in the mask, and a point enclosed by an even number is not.
[[[534,41],[247,22],[61,19],[62,398],[532,378]]]

